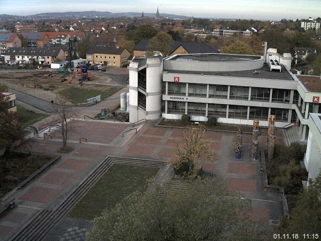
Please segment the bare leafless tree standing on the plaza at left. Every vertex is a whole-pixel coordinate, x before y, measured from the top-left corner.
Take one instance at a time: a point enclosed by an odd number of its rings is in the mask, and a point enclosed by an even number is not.
[[[58,124],[55,131],[62,136],[63,150],[67,150],[68,133],[75,131],[75,127],[70,124],[78,117],[77,110],[68,105],[68,97],[57,96],[52,102],[52,112],[56,115],[54,120]]]

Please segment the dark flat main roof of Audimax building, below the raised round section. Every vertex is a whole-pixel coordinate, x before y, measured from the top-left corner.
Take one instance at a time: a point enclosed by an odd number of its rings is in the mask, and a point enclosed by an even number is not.
[[[292,76],[283,70],[270,71],[268,65],[264,63],[263,68],[256,70],[243,70],[243,71],[229,71],[229,72],[204,72],[204,71],[180,71],[180,70],[164,70],[168,73],[178,74],[204,74],[204,75],[215,75],[215,76],[232,76],[232,77],[244,77],[244,78],[258,78],[258,79],[280,79],[280,80],[292,80],[295,81]]]

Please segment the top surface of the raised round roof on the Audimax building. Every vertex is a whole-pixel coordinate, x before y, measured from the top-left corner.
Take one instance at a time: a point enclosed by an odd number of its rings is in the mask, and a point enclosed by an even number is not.
[[[256,55],[236,55],[236,54],[184,54],[177,55],[168,60],[187,61],[187,62],[242,62],[260,59],[261,56]]]

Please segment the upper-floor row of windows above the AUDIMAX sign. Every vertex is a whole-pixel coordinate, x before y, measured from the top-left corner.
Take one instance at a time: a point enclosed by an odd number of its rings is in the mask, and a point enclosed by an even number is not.
[[[169,95],[183,95],[186,96],[186,83],[168,83]],[[249,99],[249,87],[244,86],[230,86],[230,99]],[[209,97],[227,98],[227,85],[209,85]],[[188,96],[207,96],[207,84],[189,84]],[[269,101],[269,88],[251,88],[250,100]],[[272,102],[290,102],[289,89],[273,89]]]

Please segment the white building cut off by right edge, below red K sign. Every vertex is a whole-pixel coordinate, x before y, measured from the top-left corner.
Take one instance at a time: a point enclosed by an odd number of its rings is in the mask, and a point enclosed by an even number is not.
[[[309,173],[308,179],[314,180],[321,171],[321,114],[310,113],[309,115],[309,134],[304,155],[304,165]]]

